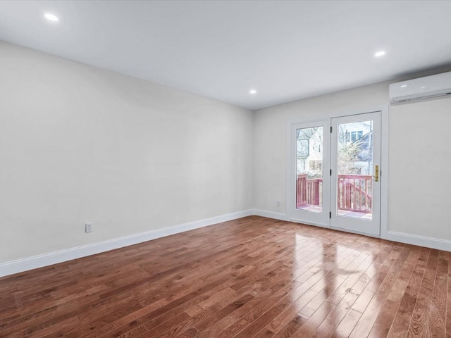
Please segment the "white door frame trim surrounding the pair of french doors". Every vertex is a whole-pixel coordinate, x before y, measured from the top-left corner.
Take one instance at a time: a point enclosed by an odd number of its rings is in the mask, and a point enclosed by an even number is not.
[[[288,221],[296,222],[296,223],[304,223],[308,225],[318,225],[321,227],[330,228],[330,220],[328,220],[327,224],[314,224],[312,222],[301,220],[293,215],[293,210],[295,210],[295,199],[294,189],[295,185],[292,184],[292,175],[293,175],[293,167],[292,167],[292,154],[295,151],[293,148],[292,142],[292,128],[293,125],[304,124],[304,123],[312,123],[321,120],[326,120],[330,118],[340,118],[349,115],[359,115],[364,113],[374,113],[381,112],[381,168],[379,171],[379,176],[381,177],[381,235],[374,237],[381,237],[383,239],[388,239],[388,105],[384,106],[376,106],[369,108],[362,108],[359,110],[350,110],[350,111],[341,111],[341,112],[330,112],[321,115],[316,115],[315,118],[296,118],[288,120],[286,135],[287,135],[287,156],[286,156],[286,209],[285,215]],[[350,230],[343,230],[349,231]]]

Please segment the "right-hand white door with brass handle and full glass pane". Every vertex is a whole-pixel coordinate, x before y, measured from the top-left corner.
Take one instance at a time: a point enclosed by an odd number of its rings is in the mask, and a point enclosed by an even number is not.
[[[330,227],[381,233],[381,112],[331,120]]]

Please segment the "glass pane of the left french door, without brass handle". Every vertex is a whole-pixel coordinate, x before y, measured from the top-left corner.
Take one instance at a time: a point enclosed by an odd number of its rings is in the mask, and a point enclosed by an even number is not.
[[[323,127],[296,130],[296,208],[323,212]]]

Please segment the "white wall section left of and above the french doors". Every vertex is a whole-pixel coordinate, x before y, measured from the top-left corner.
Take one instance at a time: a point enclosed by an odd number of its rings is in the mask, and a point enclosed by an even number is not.
[[[350,89],[256,111],[254,116],[254,196],[257,209],[285,213],[288,120],[315,120],[334,112],[386,105],[388,84]],[[282,201],[276,207],[276,200]]]

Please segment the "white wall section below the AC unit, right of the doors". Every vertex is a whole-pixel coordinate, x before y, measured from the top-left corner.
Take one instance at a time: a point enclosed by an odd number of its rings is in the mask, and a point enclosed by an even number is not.
[[[390,108],[389,229],[451,240],[451,98]]]

